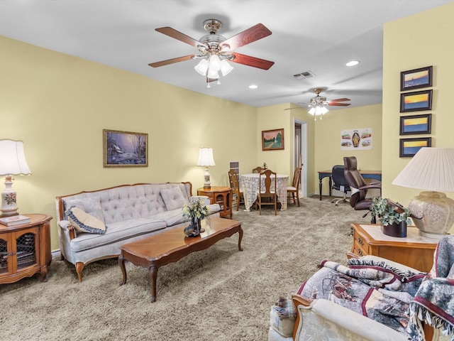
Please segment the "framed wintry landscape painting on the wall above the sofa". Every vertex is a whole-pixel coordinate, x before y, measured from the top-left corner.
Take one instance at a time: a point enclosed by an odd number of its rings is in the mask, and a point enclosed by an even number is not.
[[[148,167],[148,134],[103,129],[104,167]]]

